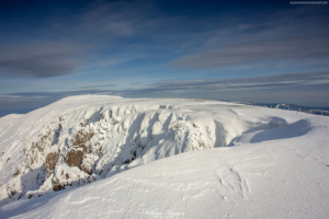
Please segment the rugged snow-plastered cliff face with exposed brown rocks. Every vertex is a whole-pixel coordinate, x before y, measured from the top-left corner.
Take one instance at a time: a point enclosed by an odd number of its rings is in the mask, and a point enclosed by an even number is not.
[[[216,139],[189,118],[186,110],[173,108],[178,102],[132,104],[107,97],[107,105],[86,106],[83,100],[82,106],[71,107],[72,101],[79,99],[15,117],[14,128],[2,127],[2,203],[84,185],[126,170],[133,161],[139,165],[215,147]]]

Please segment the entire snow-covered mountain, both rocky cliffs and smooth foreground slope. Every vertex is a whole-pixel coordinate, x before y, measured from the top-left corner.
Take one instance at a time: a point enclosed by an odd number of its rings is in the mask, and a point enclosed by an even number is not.
[[[66,97],[0,118],[0,215],[325,218],[328,122],[217,101]]]

